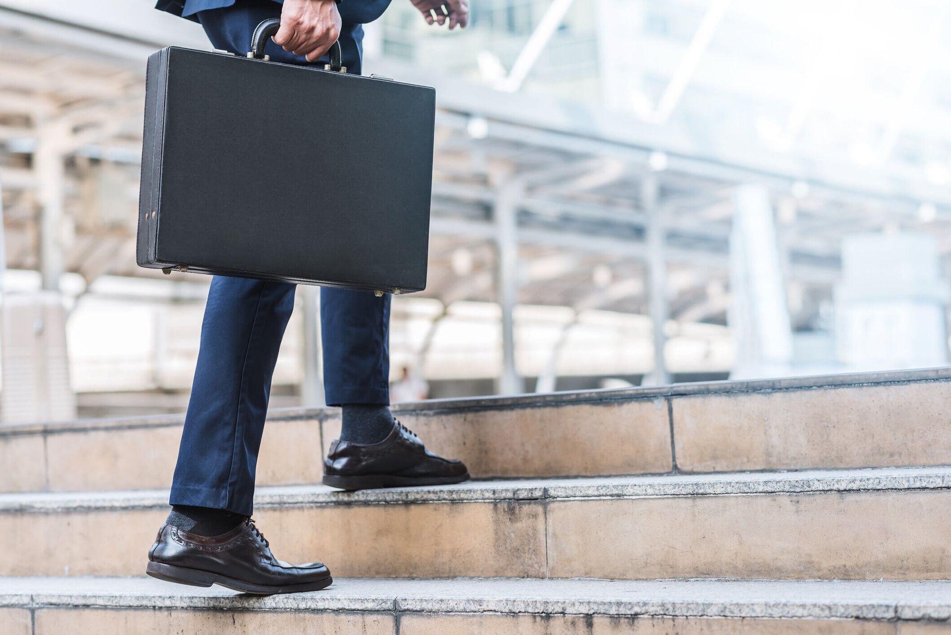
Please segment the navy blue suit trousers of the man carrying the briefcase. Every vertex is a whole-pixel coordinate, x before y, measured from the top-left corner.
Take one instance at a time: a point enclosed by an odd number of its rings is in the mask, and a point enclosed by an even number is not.
[[[278,4],[251,2],[204,10],[198,17],[215,48],[243,55],[255,26],[280,14]],[[359,25],[344,24],[340,44],[350,72],[359,72],[361,35]],[[266,52],[273,61],[306,63],[273,42]],[[280,160],[280,148],[275,156],[271,160]],[[294,290],[294,284],[283,282],[211,280],[170,504],[251,514],[271,376],[294,309]],[[329,405],[389,403],[390,298],[320,290],[323,385]],[[320,448],[310,450],[320,456]]]

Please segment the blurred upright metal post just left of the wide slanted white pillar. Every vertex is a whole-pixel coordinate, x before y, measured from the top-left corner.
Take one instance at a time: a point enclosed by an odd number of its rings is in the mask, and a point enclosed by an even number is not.
[[[670,317],[667,299],[667,223],[664,207],[657,204],[659,186],[656,175],[650,173],[641,182],[641,207],[648,219],[648,292],[650,293],[650,325],[653,340],[653,371],[644,378],[645,385],[661,386],[670,383],[664,347],[667,334],[664,327]]]

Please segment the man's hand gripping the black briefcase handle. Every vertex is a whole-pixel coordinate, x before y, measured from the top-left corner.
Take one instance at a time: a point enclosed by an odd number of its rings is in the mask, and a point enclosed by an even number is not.
[[[340,37],[340,11],[335,0],[284,0],[281,29],[274,41],[308,62],[316,62]]]

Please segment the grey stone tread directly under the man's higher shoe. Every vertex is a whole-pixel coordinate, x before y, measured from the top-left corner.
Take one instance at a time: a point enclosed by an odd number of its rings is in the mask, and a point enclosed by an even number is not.
[[[258,488],[255,504],[416,503],[564,498],[630,498],[835,491],[951,489],[951,467],[718,472],[469,481],[388,490],[340,491],[323,485]],[[142,509],[167,504],[166,490],[0,493],[0,511]]]

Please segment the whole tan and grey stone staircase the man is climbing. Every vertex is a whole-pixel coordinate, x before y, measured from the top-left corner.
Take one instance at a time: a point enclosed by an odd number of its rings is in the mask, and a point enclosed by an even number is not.
[[[181,417],[0,427],[0,632],[951,633],[949,397],[937,370],[424,402],[398,417],[494,480],[359,492],[315,485],[333,411],[277,412],[256,517],[337,582],[270,598],[141,577]]]

